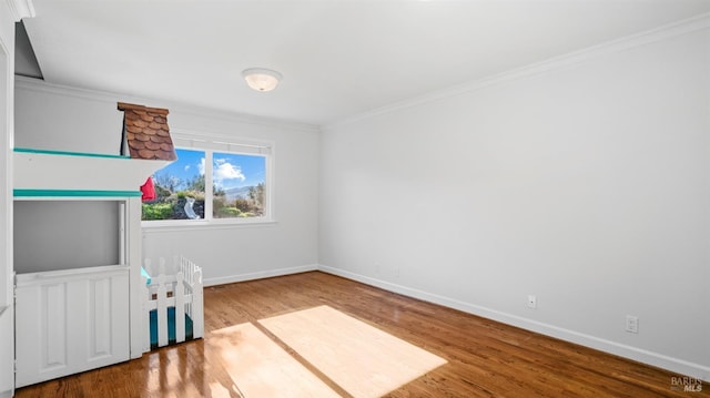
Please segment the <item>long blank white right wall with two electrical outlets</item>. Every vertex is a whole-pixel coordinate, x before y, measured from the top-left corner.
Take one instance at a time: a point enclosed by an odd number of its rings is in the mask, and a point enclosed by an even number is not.
[[[710,380],[708,27],[328,126],[324,269]]]

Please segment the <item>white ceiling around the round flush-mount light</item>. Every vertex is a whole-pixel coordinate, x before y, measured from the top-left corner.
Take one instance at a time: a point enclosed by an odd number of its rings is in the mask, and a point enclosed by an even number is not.
[[[33,3],[24,23],[48,82],[316,125],[710,12],[710,0]],[[284,79],[255,92],[247,68]]]

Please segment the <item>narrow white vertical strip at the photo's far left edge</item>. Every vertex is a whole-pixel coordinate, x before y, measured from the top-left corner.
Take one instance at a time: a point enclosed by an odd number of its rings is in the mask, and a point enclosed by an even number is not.
[[[7,1],[0,1],[0,397],[14,389],[14,333],[12,319],[12,86],[14,20]]]

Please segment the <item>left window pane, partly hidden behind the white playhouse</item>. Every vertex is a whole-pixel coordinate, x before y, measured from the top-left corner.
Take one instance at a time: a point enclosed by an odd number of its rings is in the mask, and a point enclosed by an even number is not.
[[[204,218],[204,151],[175,150],[178,160],[153,174],[155,200],[142,220]]]

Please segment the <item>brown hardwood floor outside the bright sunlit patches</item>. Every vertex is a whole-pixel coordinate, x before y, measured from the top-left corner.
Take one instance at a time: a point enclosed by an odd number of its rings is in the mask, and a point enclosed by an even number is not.
[[[707,385],[700,392],[673,390],[672,378],[681,375],[320,272],[207,287],[204,303],[204,340],[24,387],[16,396],[240,397],[209,341],[216,330],[252,323],[351,397],[257,323],[328,305],[448,361],[387,397],[710,397]]]

